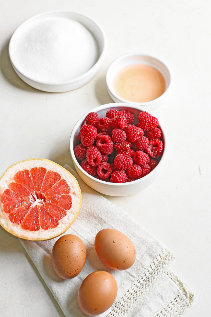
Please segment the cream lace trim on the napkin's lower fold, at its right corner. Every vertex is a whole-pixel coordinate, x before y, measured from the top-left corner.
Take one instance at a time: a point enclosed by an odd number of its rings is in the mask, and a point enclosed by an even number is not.
[[[194,302],[194,293],[183,281],[181,281],[170,269],[165,271],[179,287],[180,293],[172,297],[171,301],[153,317],[174,317],[181,315]]]

